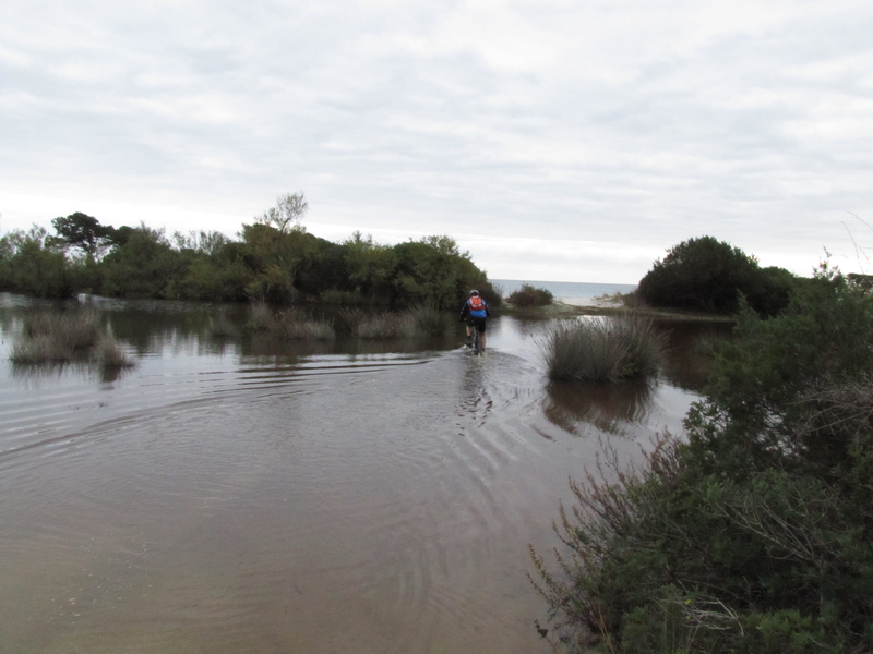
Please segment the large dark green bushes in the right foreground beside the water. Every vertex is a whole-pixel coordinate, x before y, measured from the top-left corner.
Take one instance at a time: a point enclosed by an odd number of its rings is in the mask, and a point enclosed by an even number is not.
[[[531,550],[551,633],[574,652],[870,652],[872,327],[871,296],[826,268],[775,317],[741,304],[684,436],[641,467],[607,457],[561,507],[557,569]]]

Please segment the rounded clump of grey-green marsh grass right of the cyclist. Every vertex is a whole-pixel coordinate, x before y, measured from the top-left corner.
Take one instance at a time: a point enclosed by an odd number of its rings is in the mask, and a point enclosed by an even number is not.
[[[555,323],[540,341],[551,379],[619,382],[656,375],[667,339],[641,316]]]

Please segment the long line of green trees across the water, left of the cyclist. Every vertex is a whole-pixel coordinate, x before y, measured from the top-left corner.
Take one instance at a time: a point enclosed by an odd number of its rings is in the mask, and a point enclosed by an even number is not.
[[[457,307],[470,289],[500,295],[449,237],[397,245],[354,233],[340,243],[300,225],[302,194],[279,198],[238,240],[217,231],[167,237],[163,229],[115,228],[76,213],[0,237],[0,290],[39,298],[81,292],[119,298],[324,302]]]

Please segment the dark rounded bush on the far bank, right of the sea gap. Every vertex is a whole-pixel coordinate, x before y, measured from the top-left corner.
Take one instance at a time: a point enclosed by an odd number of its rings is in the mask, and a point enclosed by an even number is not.
[[[784,308],[793,275],[781,268],[762,269],[739,247],[713,237],[683,241],[655,262],[639,281],[637,295],[653,306],[732,314],[740,298],[761,315]]]

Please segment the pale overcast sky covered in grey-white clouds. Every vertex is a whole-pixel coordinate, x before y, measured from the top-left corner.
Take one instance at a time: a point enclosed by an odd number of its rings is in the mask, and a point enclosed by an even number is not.
[[[871,35],[870,0],[5,0],[0,230],[235,234],[303,191],[316,235],[492,278],[636,283],[706,234],[873,272]]]

